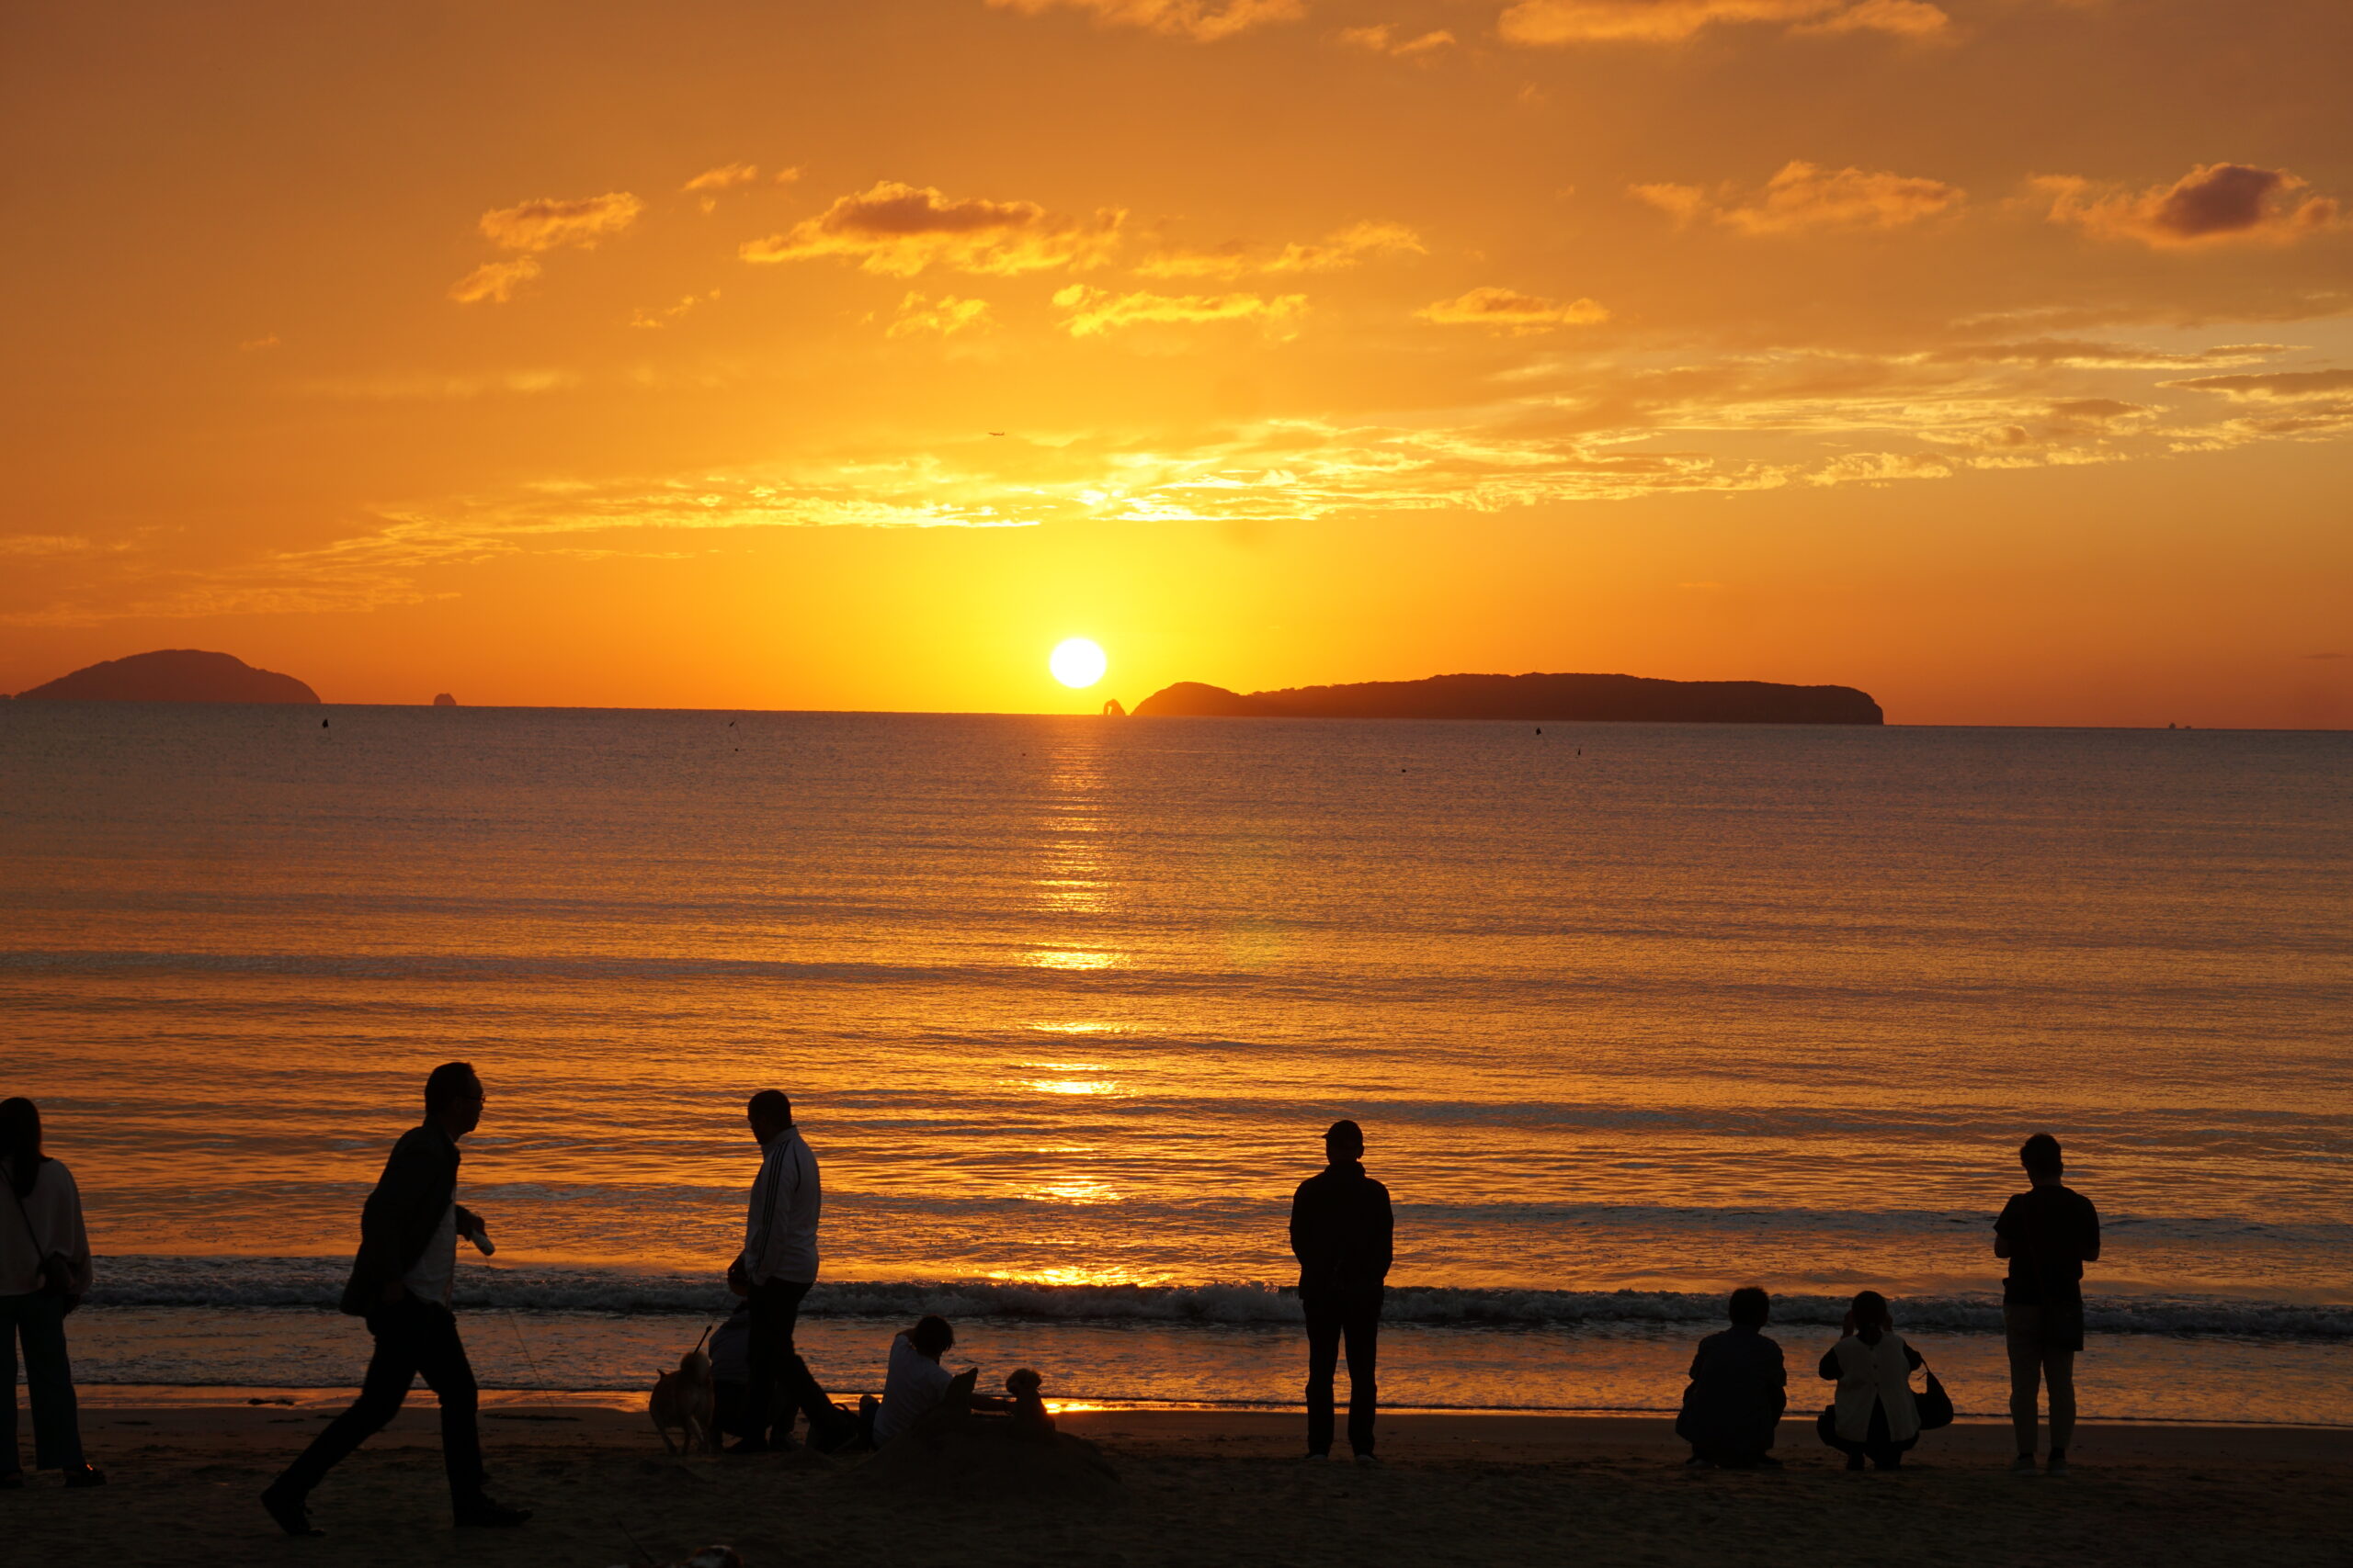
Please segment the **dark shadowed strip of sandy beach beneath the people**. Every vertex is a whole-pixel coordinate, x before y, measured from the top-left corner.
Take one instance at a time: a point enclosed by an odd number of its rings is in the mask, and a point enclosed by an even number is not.
[[[1689,1472],[1664,1420],[1395,1415],[1384,1467],[1297,1458],[1299,1418],[1073,1410],[1120,1472],[1111,1502],[878,1488],[859,1460],[668,1458],[642,1415],[494,1403],[494,1490],[539,1516],[456,1533],[435,1413],[414,1399],[313,1497],[325,1540],[285,1540],[254,1493],[325,1410],[87,1413],[111,1486],[35,1476],[0,1495],[9,1561],[671,1563],[727,1542],[781,1563],[2344,1563],[2353,1429],[2129,1427],[2078,1434],[2066,1479],[2009,1476],[2007,1429],[1929,1434],[1904,1474],[1845,1474],[1784,1422],[1779,1474]]]

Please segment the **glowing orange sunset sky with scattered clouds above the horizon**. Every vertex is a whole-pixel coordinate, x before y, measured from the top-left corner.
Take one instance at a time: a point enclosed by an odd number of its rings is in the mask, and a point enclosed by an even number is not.
[[[2353,724],[2346,59],[2339,0],[35,7],[0,689]]]

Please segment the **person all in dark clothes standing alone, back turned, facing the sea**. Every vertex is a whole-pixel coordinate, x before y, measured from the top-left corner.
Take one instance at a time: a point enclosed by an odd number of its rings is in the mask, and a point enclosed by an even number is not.
[[[1358,1465],[1377,1465],[1374,1361],[1395,1222],[1388,1187],[1365,1175],[1365,1131],[1355,1121],[1332,1124],[1325,1161],[1322,1173],[1292,1194],[1292,1255],[1299,1258],[1299,1305],[1308,1316],[1308,1458],[1332,1458],[1332,1373],[1346,1340],[1348,1446]]]

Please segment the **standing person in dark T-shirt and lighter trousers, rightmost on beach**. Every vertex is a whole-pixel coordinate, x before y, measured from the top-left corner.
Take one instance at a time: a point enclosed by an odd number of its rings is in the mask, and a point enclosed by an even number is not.
[[[2049,1474],[2066,1474],[2075,1436],[2075,1352],[2082,1349],[2082,1265],[2099,1262],[2099,1211],[2064,1187],[2059,1140],[2035,1133],[2019,1145],[2033,1187],[2002,1206],[1993,1255],[2009,1260],[2002,1331],[2009,1340],[2009,1427],[2019,1439],[2012,1474],[2035,1474],[2035,1382],[2052,1396]]]

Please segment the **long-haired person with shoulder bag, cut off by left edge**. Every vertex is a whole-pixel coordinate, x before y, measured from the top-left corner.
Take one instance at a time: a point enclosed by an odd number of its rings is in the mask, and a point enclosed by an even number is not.
[[[16,1342],[33,1396],[33,1462],[66,1472],[66,1486],[106,1486],[82,1458],[82,1425],[66,1359],[66,1314],[89,1293],[89,1232],[82,1192],[64,1161],[40,1152],[40,1107],[0,1100],[0,1335],[7,1338],[7,1453],[0,1488],[24,1486],[16,1455]]]

